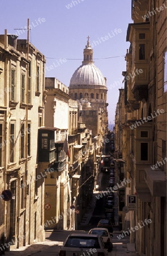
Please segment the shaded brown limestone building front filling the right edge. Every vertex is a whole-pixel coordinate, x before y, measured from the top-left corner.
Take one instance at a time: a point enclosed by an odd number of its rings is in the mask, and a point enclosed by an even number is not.
[[[162,0],[132,1],[125,123],[118,125],[125,176],[131,177],[126,192],[137,196],[137,209],[125,220],[131,227],[151,220],[130,235],[139,255],[147,256],[166,255],[166,9]]]

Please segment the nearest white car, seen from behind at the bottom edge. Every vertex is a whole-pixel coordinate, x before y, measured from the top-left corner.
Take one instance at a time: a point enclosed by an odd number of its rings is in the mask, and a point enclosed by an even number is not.
[[[70,234],[59,250],[59,256],[108,256],[101,236],[95,234]]]

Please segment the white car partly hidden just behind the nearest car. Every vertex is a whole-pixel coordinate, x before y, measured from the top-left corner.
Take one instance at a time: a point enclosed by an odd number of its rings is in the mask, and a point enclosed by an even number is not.
[[[113,249],[113,243],[112,243],[112,237],[113,234],[109,233],[108,229],[105,228],[94,228],[89,230],[88,234],[98,234],[102,237],[102,240],[104,242],[105,248],[108,249],[108,251],[111,251]]]

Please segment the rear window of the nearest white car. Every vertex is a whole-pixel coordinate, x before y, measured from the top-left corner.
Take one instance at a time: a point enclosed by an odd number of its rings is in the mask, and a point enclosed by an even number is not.
[[[97,237],[69,237],[65,247],[83,247],[100,249]]]

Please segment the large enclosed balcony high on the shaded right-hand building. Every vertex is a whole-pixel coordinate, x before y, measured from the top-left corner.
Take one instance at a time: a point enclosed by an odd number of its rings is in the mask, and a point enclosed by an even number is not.
[[[131,80],[131,90],[136,101],[147,101],[149,83],[149,22],[129,24],[126,40],[131,42],[131,71],[127,78]],[[128,56],[127,56],[128,57]]]

